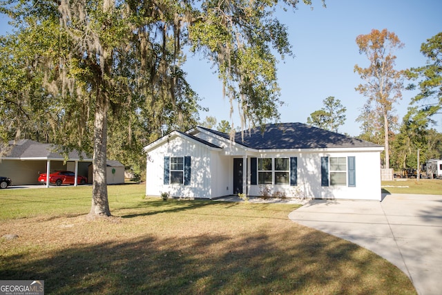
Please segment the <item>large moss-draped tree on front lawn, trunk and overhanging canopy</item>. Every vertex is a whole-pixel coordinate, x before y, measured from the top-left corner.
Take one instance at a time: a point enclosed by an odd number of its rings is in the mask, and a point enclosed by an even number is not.
[[[284,57],[291,51],[287,29],[274,17],[275,4],[241,0],[0,2],[0,11],[13,19],[17,35],[34,37],[28,44],[38,51],[30,63],[35,70],[23,69],[32,81],[30,73],[42,78],[39,99],[63,131],[52,133],[56,143],[64,144],[66,151],[84,151],[87,142],[92,142],[90,216],[111,216],[106,187],[109,119],[127,116],[129,141],[133,138],[131,120],[137,115],[150,117],[145,127],[153,134],[170,122],[185,124],[183,110],[192,109],[185,104],[194,102],[195,94],[180,68],[184,44],[213,61],[225,95],[232,106],[238,103],[242,126],[278,119],[281,102],[273,52]],[[296,8],[298,1],[284,4]],[[44,113],[43,107],[37,104],[36,108]]]

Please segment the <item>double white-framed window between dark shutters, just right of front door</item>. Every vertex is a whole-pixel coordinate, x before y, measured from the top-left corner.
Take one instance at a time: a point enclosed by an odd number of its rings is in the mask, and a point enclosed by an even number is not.
[[[258,184],[289,184],[289,158],[258,158]]]

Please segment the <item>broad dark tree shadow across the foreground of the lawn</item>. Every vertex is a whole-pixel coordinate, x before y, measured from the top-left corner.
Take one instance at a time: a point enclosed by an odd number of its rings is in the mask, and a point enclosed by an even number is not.
[[[145,235],[41,255],[3,256],[0,278],[45,280],[46,294],[414,294],[385,260],[311,230]]]

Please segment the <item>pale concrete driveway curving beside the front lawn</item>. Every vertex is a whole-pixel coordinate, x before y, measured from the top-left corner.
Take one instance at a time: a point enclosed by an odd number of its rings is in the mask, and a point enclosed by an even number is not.
[[[311,200],[289,218],[389,260],[410,277],[418,294],[442,294],[442,196]]]

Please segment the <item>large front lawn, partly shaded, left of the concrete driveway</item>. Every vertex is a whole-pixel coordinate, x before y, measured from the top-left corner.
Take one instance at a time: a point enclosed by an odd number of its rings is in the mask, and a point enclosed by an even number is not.
[[[0,278],[46,294],[416,294],[394,265],[288,220],[294,204],[163,201],[108,187],[111,220],[86,221],[90,187],[0,191]]]

